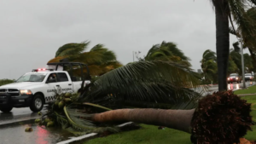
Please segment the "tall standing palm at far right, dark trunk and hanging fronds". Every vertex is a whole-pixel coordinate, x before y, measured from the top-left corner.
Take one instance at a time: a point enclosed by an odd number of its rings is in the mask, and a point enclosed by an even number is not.
[[[256,4],[254,0],[211,0],[215,8],[216,20],[216,51],[218,64],[218,90],[227,89],[227,67],[230,51],[229,18],[240,27],[241,37],[245,41],[248,37],[255,37],[255,22],[247,16],[245,9],[247,2]],[[232,15],[232,17],[231,17]],[[234,26],[233,26],[234,27]],[[244,42],[246,43],[246,42]]]

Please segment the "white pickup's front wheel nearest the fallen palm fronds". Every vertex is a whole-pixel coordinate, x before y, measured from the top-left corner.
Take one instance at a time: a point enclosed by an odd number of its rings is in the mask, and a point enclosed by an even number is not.
[[[44,107],[44,100],[42,95],[35,95],[30,104],[32,112],[40,112]]]

